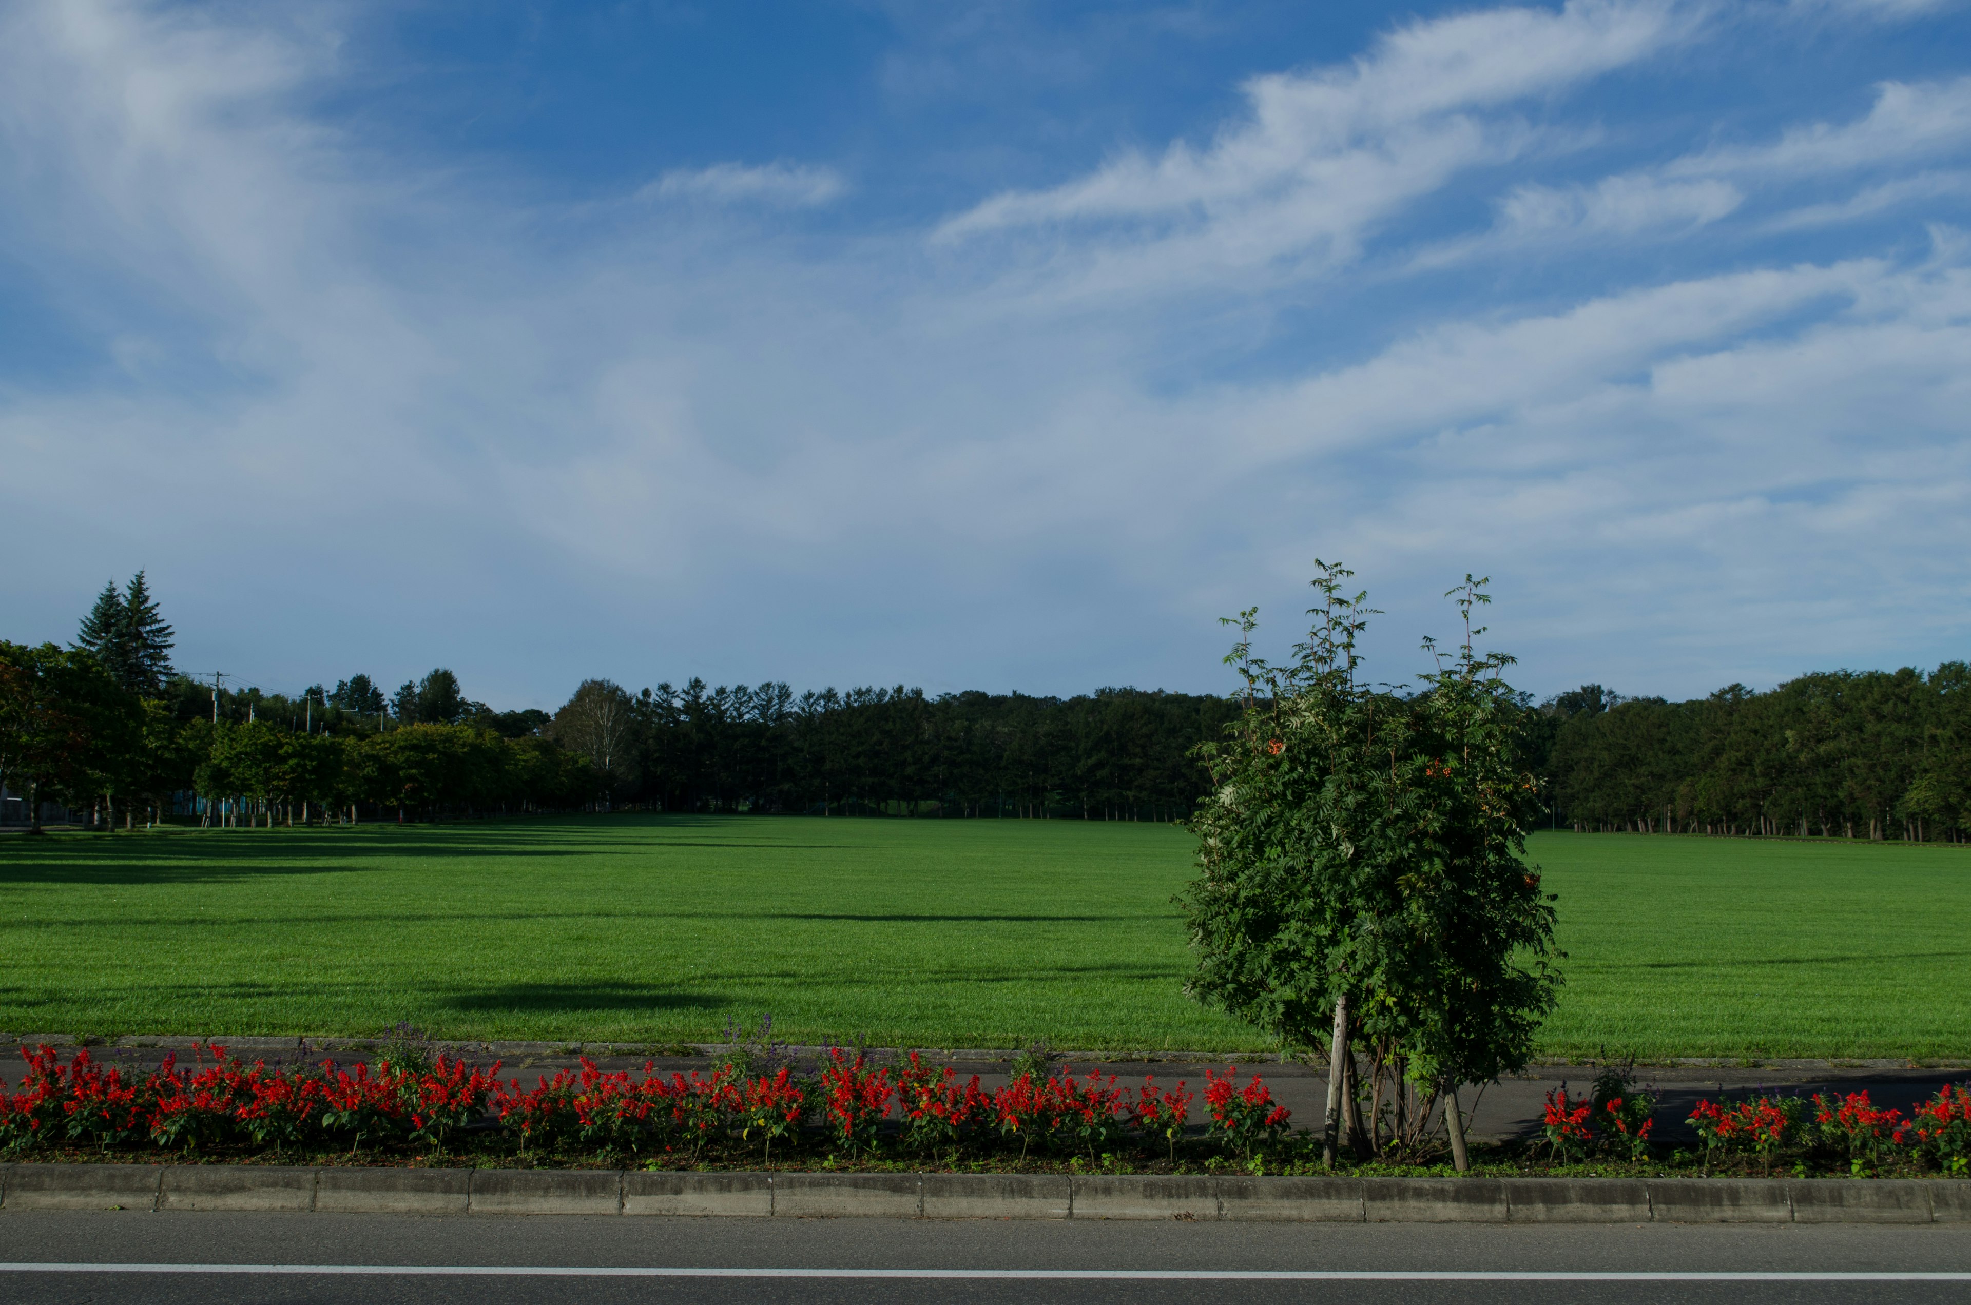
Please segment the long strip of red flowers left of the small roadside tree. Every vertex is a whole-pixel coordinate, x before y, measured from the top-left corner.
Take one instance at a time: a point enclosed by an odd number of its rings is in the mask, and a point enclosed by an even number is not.
[[[579,1068],[538,1076],[534,1086],[501,1078],[501,1066],[469,1066],[443,1055],[380,1059],[376,1065],[268,1066],[193,1049],[132,1078],[81,1049],[63,1065],[49,1047],[22,1049],[20,1090],[0,1092],[0,1149],[166,1149],[185,1155],[252,1147],[284,1155],[347,1147],[440,1151],[473,1135],[483,1147],[528,1155],[611,1155],[696,1163],[708,1151],[757,1147],[773,1159],[779,1141],[859,1155],[1114,1155],[1167,1151],[1175,1161],[1192,1092],[1179,1082],[1118,1086],[1116,1076],[1070,1068],[1021,1072],[991,1092],[978,1074],[928,1066],[918,1053],[899,1065],[834,1051],[814,1078],[790,1066],[747,1074],[733,1065],[710,1072]],[[1287,1110],[1263,1080],[1238,1084],[1238,1070],[1208,1074],[1208,1145],[1252,1157],[1287,1130]]]

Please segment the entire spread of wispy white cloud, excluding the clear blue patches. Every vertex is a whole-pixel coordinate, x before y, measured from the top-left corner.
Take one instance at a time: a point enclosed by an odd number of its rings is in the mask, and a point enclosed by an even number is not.
[[[1764,154],[1543,175],[1508,110],[1687,30],[1591,4],[1413,24],[1250,83],[1208,146],[972,209],[922,258],[913,233],[814,252],[670,203],[842,193],[792,164],[668,173],[648,221],[554,227],[323,130],[304,93],[333,41],[22,6],[0,221],[114,375],[10,373],[0,550],[83,599],[152,566],[187,593],[187,660],[307,682],[445,658],[518,700],[680,668],[1196,688],[1210,617],[1297,609],[1315,554],[1405,635],[1443,629],[1405,591],[1494,572],[1535,686],[1701,692],[1961,639],[1951,231],[1914,264],[1746,246],[1727,272],[1658,244],[1634,282],[1529,304],[1500,276],[1403,327],[1344,315],[1340,345],[1256,333],[1194,365],[1218,274],[1261,315],[1287,296],[1256,268],[1342,256],[1472,160],[1506,170],[1492,239],[1522,250],[1701,229],[1870,150],[1880,203],[1955,185],[1906,170],[1953,148],[1959,83],[1884,87]],[[1894,154],[1892,122],[1930,144]],[[1056,270],[1060,296],[1171,294],[995,315]]]

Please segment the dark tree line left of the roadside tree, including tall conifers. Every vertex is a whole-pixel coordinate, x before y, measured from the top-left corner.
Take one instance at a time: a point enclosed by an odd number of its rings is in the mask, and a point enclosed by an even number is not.
[[[1236,714],[1210,696],[1074,698],[690,680],[585,680],[552,716],[497,712],[436,668],[386,694],[355,674],[300,694],[170,662],[142,572],[71,647],[0,641],[0,783],[37,824],[272,824],[645,808],[1169,820],[1206,777],[1192,749]]]

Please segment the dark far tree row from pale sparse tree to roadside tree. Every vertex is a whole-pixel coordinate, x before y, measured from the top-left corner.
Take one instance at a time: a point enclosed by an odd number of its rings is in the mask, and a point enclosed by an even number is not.
[[[786,684],[629,694],[587,680],[546,733],[617,800],[662,810],[812,810],[1169,820],[1206,787],[1192,749],[1224,698],[1104,688],[1074,698]]]

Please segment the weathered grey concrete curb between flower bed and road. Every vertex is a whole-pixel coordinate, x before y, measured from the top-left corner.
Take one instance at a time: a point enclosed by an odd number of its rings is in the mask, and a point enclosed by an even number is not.
[[[0,1165],[0,1210],[1971,1224],[1971,1183]]]

